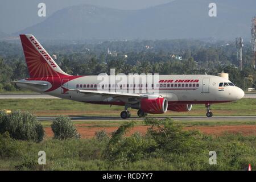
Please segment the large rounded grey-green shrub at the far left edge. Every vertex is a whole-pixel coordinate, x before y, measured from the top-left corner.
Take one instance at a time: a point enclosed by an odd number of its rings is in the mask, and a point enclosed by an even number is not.
[[[0,111],[0,133],[3,134],[6,131],[14,139],[40,142],[44,138],[43,126],[35,115],[20,110],[11,114]]]

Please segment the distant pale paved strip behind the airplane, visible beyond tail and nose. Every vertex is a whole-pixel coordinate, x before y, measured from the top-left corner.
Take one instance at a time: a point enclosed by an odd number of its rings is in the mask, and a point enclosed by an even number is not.
[[[35,98],[45,98],[45,99],[60,99],[58,97],[49,96],[47,94],[31,93],[31,94],[0,94],[0,99],[35,99]],[[256,98],[256,93],[246,93],[243,98]]]

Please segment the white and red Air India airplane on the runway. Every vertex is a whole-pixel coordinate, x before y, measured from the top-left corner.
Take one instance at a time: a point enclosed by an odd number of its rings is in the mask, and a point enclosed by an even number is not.
[[[151,83],[101,84],[98,76],[68,75],[33,35],[20,35],[20,40],[30,77],[11,82],[68,100],[125,106],[120,114],[122,119],[131,117],[129,108],[137,109],[139,117],[146,117],[148,113],[163,114],[167,110],[190,111],[193,104],[204,104],[207,117],[212,117],[210,105],[237,101],[245,94],[228,79],[212,75],[159,75],[157,83],[152,85],[153,89],[158,89],[158,94],[120,92],[117,88],[138,91],[147,89]]]

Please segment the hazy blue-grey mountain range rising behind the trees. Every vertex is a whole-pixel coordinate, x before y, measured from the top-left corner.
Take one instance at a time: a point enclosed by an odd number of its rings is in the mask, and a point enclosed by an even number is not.
[[[176,0],[141,10],[93,5],[71,6],[18,34],[41,39],[205,39],[250,40],[255,0],[214,0],[217,16],[208,15],[213,0]]]

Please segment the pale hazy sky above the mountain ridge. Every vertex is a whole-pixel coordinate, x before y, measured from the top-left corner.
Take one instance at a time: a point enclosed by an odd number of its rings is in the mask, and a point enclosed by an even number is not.
[[[174,0],[0,0],[0,31],[7,34],[42,22],[49,15],[64,7],[90,4],[115,9],[144,9]],[[38,4],[46,3],[46,18],[38,16]]]

